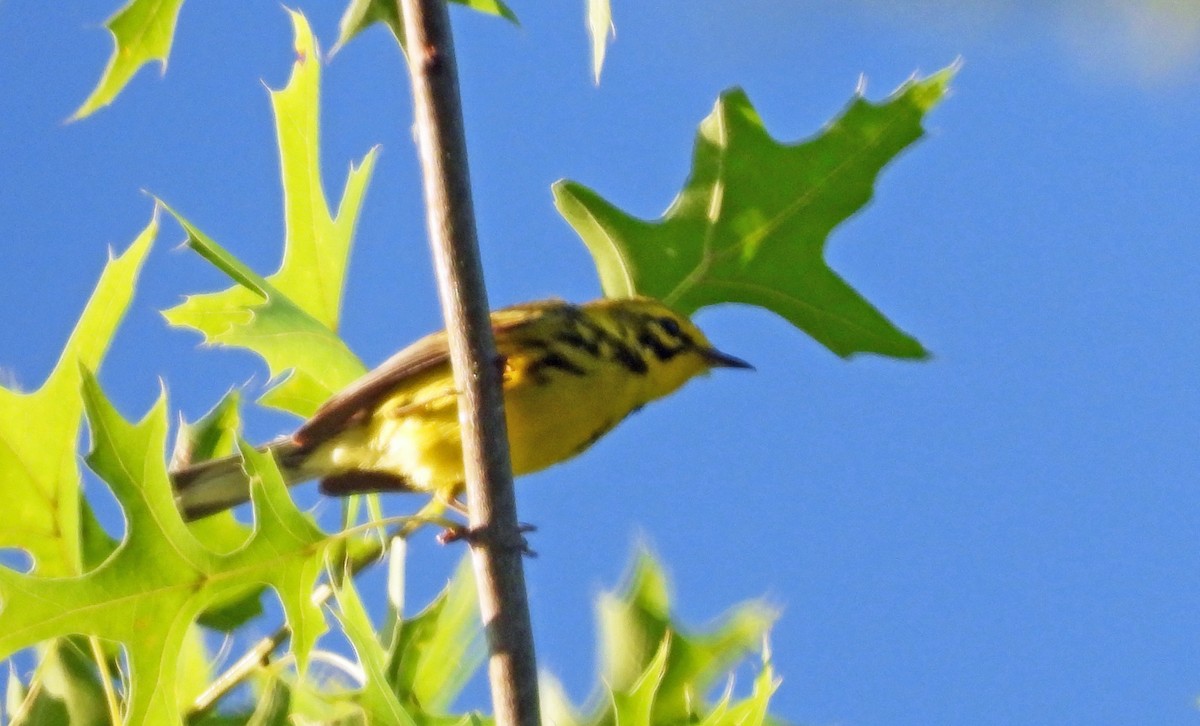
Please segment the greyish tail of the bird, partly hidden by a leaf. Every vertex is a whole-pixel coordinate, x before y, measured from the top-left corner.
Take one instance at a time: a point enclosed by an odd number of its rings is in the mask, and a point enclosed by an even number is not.
[[[275,456],[283,482],[288,486],[308,479],[304,470],[306,452],[290,439],[280,439],[260,448]],[[211,458],[170,472],[175,504],[185,520],[198,520],[250,502],[250,479],[240,455]]]

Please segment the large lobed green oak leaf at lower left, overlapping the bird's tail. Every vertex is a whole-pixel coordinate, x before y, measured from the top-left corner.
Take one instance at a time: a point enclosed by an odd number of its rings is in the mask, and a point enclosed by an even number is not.
[[[79,576],[36,577],[0,568],[0,659],[64,635],[121,643],[132,684],[126,722],[176,724],[178,697],[187,690],[180,653],[192,623],[220,598],[266,584],[278,594],[302,670],[325,629],[311,593],[332,539],[292,503],[270,455],[240,446],[251,475],[254,530],[235,552],[214,552],[192,536],[175,509],[163,463],[166,398],[131,424],[86,368],[82,382],[92,440],[86,461],[120,503],[125,536],[112,557]]]

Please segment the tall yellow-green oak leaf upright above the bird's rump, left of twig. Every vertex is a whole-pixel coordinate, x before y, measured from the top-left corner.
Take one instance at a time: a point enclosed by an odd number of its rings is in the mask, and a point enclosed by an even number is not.
[[[308,416],[365,371],[337,336],[337,324],[354,227],[376,150],[350,168],[332,216],[320,184],[320,55],[305,17],[290,16],[298,60],[288,85],[271,91],[287,223],[283,262],[264,280],[172,210],[187,233],[186,245],[238,284],[191,295],[163,314],[172,325],[198,330],[209,343],[253,350],[272,377],[289,373],[260,402]]]

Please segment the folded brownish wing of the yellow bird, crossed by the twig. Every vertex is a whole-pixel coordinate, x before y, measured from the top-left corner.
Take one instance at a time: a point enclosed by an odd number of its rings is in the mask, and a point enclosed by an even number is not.
[[[546,312],[565,305],[560,301],[545,301],[496,311],[492,313],[492,332],[498,338],[511,335],[517,329],[533,324]],[[295,431],[292,440],[305,450],[329,440],[350,422],[371,415],[384,398],[409,378],[448,365],[449,361],[450,346],[445,331],[422,337],[335,394]]]

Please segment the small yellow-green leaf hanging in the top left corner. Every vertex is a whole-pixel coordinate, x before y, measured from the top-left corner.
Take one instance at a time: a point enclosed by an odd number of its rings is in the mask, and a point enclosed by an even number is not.
[[[184,0],[130,0],[104,23],[113,34],[113,55],[95,90],[71,116],[72,121],[112,103],[138,68],[148,62],[158,61],[163,72],[167,71],[167,56],[182,5]]]

